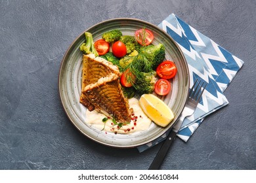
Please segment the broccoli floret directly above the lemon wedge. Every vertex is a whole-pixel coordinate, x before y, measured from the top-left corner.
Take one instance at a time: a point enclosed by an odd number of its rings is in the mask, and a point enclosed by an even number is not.
[[[150,73],[141,73],[140,77],[136,79],[135,89],[142,95],[144,93],[153,93],[156,84],[156,71]]]

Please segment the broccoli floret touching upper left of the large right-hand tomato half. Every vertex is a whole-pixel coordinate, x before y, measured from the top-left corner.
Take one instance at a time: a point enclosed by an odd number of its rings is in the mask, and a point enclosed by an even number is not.
[[[156,69],[165,58],[165,47],[163,44],[144,46],[140,49],[140,53],[145,54],[148,60],[152,61],[152,69]]]

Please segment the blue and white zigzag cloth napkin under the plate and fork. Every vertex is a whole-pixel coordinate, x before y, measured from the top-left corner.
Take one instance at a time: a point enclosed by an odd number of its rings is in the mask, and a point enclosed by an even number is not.
[[[182,141],[187,142],[205,116],[228,104],[223,92],[244,61],[186,24],[175,14],[170,14],[158,27],[169,34],[181,48],[188,63],[190,87],[196,79],[207,82],[207,87],[194,114],[185,118],[177,134]],[[139,152],[147,150],[163,141],[167,133],[148,144],[138,146],[137,149]]]

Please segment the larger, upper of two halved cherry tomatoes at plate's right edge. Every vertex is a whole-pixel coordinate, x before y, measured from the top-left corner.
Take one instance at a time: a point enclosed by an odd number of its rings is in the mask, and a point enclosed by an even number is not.
[[[160,78],[170,79],[173,78],[177,73],[177,67],[172,61],[166,60],[160,63],[156,68],[156,73]]]

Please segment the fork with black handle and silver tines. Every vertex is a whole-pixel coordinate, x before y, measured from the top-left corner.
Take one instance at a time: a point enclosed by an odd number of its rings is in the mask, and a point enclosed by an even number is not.
[[[206,82],[203,82],[202,85],[200,85],[200,82],[198,82],[198,79],[196,79],[196,82],[194,82],[194,85],[192,86],[192,88],[190,89],[190,92],[188,93],[188,100],[186,101],[186,105],[181,113],[180,118],[178,119],[176,124],[173,126],[173,129],[171,129],[171,131],[169,132],[169,135],[163,142],[158,154],[156,154],[156,157],[152,161],[149,167],[149,170],[160,169],[161,163],[163,162],[163,159],[165,159],[165,155],[167,154],[171,144],[175,140],[177,133],[181,128],[182,122],[187,116],[191,116],[192,114],[194,114],[194,111],[196,110],[196,106],[198,105],[200,98],[202,97],[203,91],[207,86]]]

